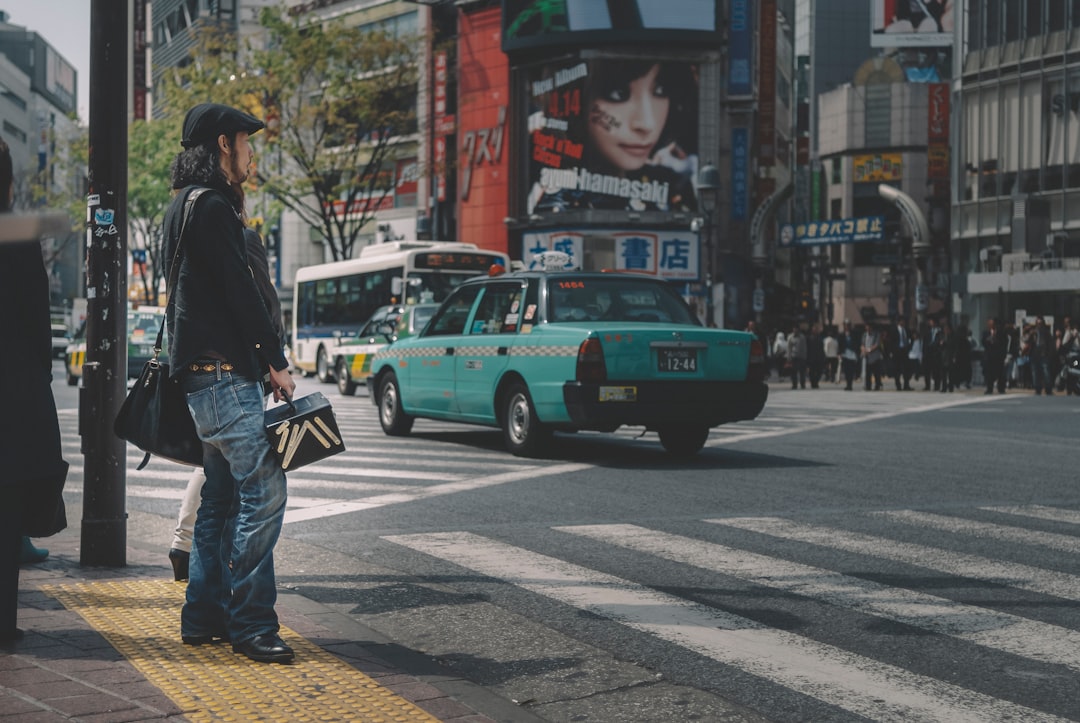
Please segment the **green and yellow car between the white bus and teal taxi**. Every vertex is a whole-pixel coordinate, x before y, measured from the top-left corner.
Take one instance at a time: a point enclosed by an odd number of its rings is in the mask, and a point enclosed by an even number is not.
[[[346,397],[366,384],[375,353],[397,339],[419,334],[438,308],[437,304],[384,306],[376,310],[356,336],[342,338],[330,351],[338,391]]]

